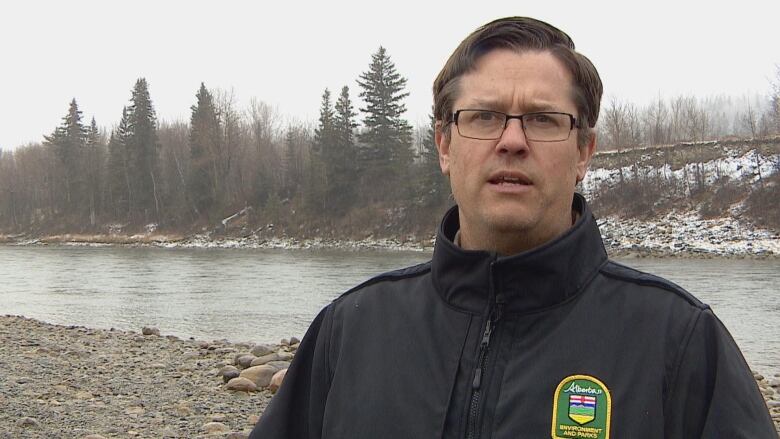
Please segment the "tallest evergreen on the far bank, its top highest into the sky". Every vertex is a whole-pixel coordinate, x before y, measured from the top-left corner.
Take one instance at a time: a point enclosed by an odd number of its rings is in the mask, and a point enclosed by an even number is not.
[[[404,91],[406,78],[396,71],[387,51],[380,46],[358,84],[362,88],[360,97],[366,103],[360,109],[365,114],[366,131],[359,136],[363,143],[365,176],[368,181],[398,188],[412,163],[412,128],[403,118],[406,106],[402,101],[409,95]]]

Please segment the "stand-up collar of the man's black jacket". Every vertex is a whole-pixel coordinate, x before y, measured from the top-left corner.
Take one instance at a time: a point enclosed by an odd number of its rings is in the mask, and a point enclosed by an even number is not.
[[[558,238],[512,256],[463,250],[453,243],[460,228],[458,206],[444,216],[436,236],[431,273],[443,299],[469,312],[491,303],[508,312],[533,312],[574,296],[607,260],[596,220],[585,199],[575,194],[574,225]]]

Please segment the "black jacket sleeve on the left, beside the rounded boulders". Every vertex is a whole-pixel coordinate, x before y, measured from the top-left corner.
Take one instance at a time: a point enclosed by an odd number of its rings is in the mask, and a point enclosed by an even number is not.
[[[312,322],[282,386],[255,425],[250,439],[319,439],[330,387],[328,351],[332,306]]]

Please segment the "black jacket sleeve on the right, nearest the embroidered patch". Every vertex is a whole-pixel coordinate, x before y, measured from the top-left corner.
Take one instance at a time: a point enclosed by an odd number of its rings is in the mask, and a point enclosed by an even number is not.
[[[694,319],[666,402],[665,437],[777,439],[731,334],[710,309]]]

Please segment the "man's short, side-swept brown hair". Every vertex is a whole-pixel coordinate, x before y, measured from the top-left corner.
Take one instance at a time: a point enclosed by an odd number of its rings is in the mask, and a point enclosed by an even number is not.
[[[460,77],[474,70],[482,55],[494,49],[548,51],[571,73],[572,100],[577,107],[578,144],[585,145],[596,126],[603,87],[593,64],[574,50],[574,42],[560,29],[528,17],[491,21],[463,40],[450,55],[433,83],[433,113],[444,124],[452,118]],[[587,122],[585,125],[582,122]],[[445,131],[448,135],[449,131]]]

